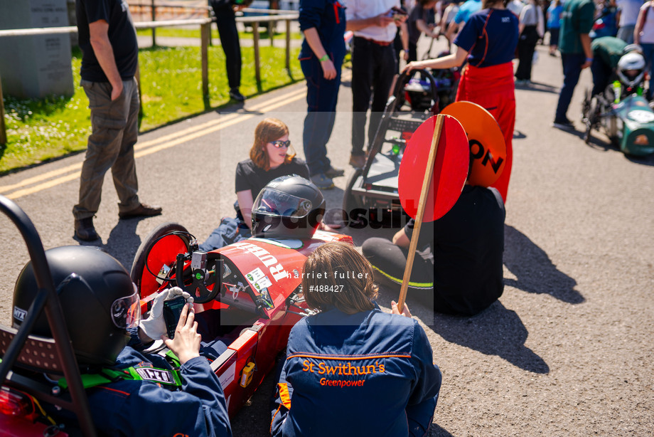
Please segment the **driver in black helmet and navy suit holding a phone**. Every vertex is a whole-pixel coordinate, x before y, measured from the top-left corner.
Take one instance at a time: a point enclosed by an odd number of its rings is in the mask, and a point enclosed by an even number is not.
[[[45,256],[98,430],[112,436],[232,435],[223,388],[207,358],[200,357],[191,305],[183,307],[174,338],[165,337],[164,300],[183,295],[192,302],[188,293],[161,292],[139,325],[139,293],[112,256],[88,246],[53,248]],[[14,327],[21,325],[16,315],[26,313],[37,290],[28,263],[14,289]],[[52,337],[45,315],[32,333]],[[171,365],[144,352],[144,342],[160,338],[178,362]],[[202,354],[215,358],[225,349],[221,342],[206,344]],[[64,379],[52,377],[46,378],[65,389]]]

